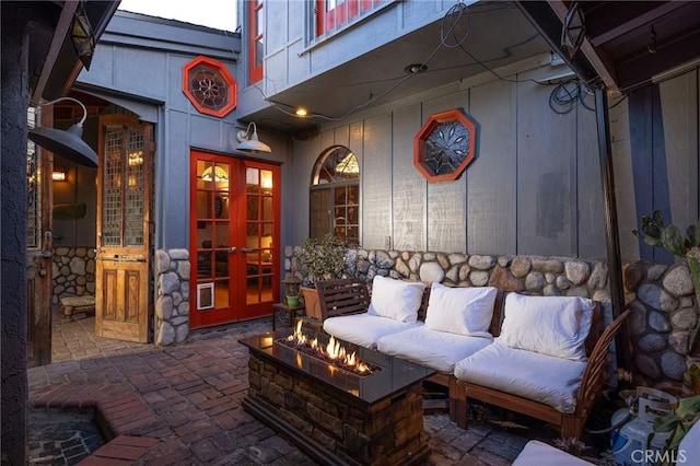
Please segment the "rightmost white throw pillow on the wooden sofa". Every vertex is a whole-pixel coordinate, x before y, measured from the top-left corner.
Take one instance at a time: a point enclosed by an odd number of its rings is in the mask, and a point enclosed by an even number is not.
[[[505,296],[503,324],[497,341],[511,348],[585,361],[584,342],[595,303],[574,296]]]

